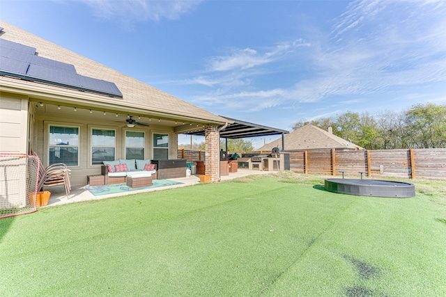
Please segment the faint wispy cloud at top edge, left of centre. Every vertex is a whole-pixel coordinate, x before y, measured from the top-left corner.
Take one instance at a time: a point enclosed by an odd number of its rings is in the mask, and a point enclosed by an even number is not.
[[[148,19],[178,19],[201,1],[169,0],[82,0],[93,9],[94,15],[105,19],[118,18],[121,22],[142,22]]]

